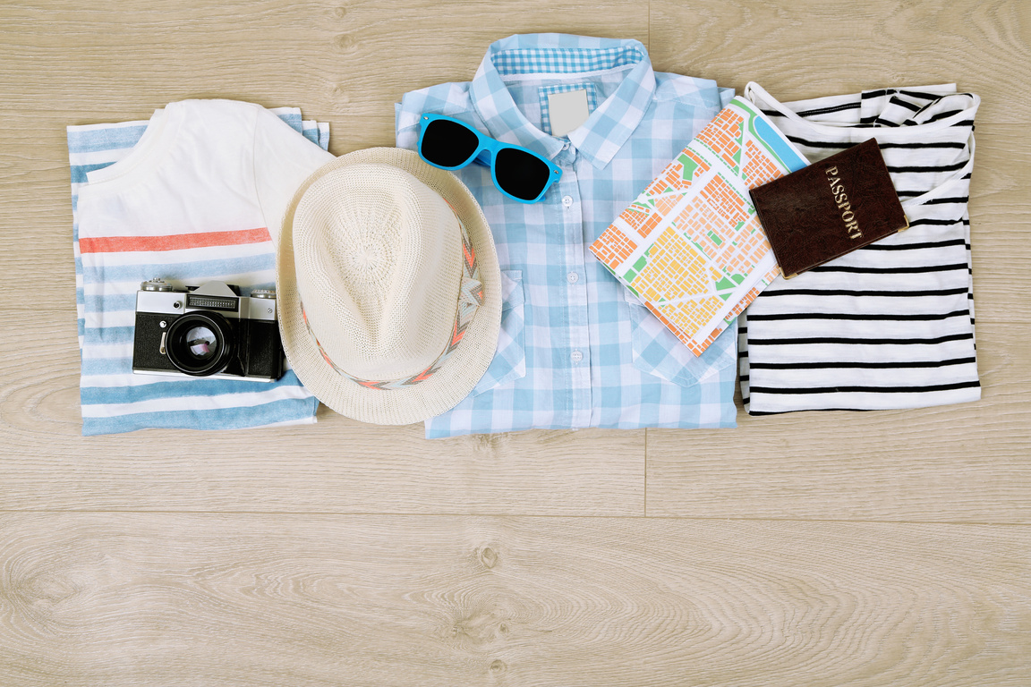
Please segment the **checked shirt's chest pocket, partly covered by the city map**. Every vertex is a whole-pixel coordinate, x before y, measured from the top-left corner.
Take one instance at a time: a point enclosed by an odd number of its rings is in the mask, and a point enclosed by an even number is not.
[[[695,355],[629,291],[631,354],[634,367],[680,386],[692,386],[737,362],[737,323],[724,330]]]

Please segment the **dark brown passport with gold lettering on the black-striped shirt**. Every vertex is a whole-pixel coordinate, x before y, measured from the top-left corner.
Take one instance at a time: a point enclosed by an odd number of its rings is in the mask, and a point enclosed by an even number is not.
[[[750,193],[788,279],[909,227],[873,138]]]

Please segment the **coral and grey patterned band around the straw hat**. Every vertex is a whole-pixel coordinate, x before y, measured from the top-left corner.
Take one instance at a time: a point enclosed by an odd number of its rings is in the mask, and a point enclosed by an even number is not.
[[[451,207],[451,203],[447,203],[447,205]],[[455,211],[454,207],[452,207],[452,211]],[[429,365],[429,367],[419,374],[405,377],[404,379],[388,381],[360,379],[354,375],[347,374],[340,368],[340,366],[330,358],[322,344],[319,343],[319,338],[312,331],[311,324],[308,322],[308,315],[304,311],[304,303],[300,303],[301,317],[304,320],[304,325],[308,330],[308,334],[311,336],[311,340],[314,342],[315,347],[319,349],[319,352],[322,353],[326,363],[328,363],[329,366],[333,368],[333,370],[335,370],[341,377],[350,379],[356,384],[361,384],[367,388],[384,390],[405,388],[418,384],[419,382],[424,382],[432,377],[433,374],[439,370],[444,362],[451,356],[452,352],[458,348],[459,343],[462,342],[462,337],[465,334],[466,328],[469,327],[469,322],[472,321],[472,318],[475,316],[479,306],[484,304],[484,284],[479,279],[479,265],[476,263],[476,251],[473,249],[472,242],[469,240],[469,234],[466,232],[465,225],[462,222],[462,218],[458,216],[457,212],[455,212],[455,218],[458,219],[459,229],[462,230],[462,285],[460,286],[458,294],[458,312],[455,314],[455,323],[452,325],[452,334],[447,340],[447,345],[444,346],[440,355],[438,355],[437,358]]]

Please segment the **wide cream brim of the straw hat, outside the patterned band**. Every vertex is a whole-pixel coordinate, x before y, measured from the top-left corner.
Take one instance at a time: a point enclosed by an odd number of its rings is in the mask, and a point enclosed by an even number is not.
[[[368,388],[341,376],[326,363],[301,315],[294,263],[293,222],[301,197],[322,176],[358,163],[402,169],[440,194],[458,213],[476,251],[484,304],[469,323],[462,343],[428,379],[405,388]],[[454,408],[467,397],[491,365],[501,327],[501,271],[491,228],[479,204],[458,177],[423,162],[403,148],[368,148],[337,158],[318,169],[294,194],[284,215],[276,251],[276,300],[279,333],[287,359],[298,379],[322,403],[347,417],[375,424],[409,424]]]

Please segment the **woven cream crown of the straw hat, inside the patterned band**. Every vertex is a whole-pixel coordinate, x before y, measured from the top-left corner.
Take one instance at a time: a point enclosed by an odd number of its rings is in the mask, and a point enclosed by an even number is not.
[[[297,289],[311,332],[350,375],[395,380],[451,340],[462,283],[458,217],[394,165],[315,180],[294,215]]]

